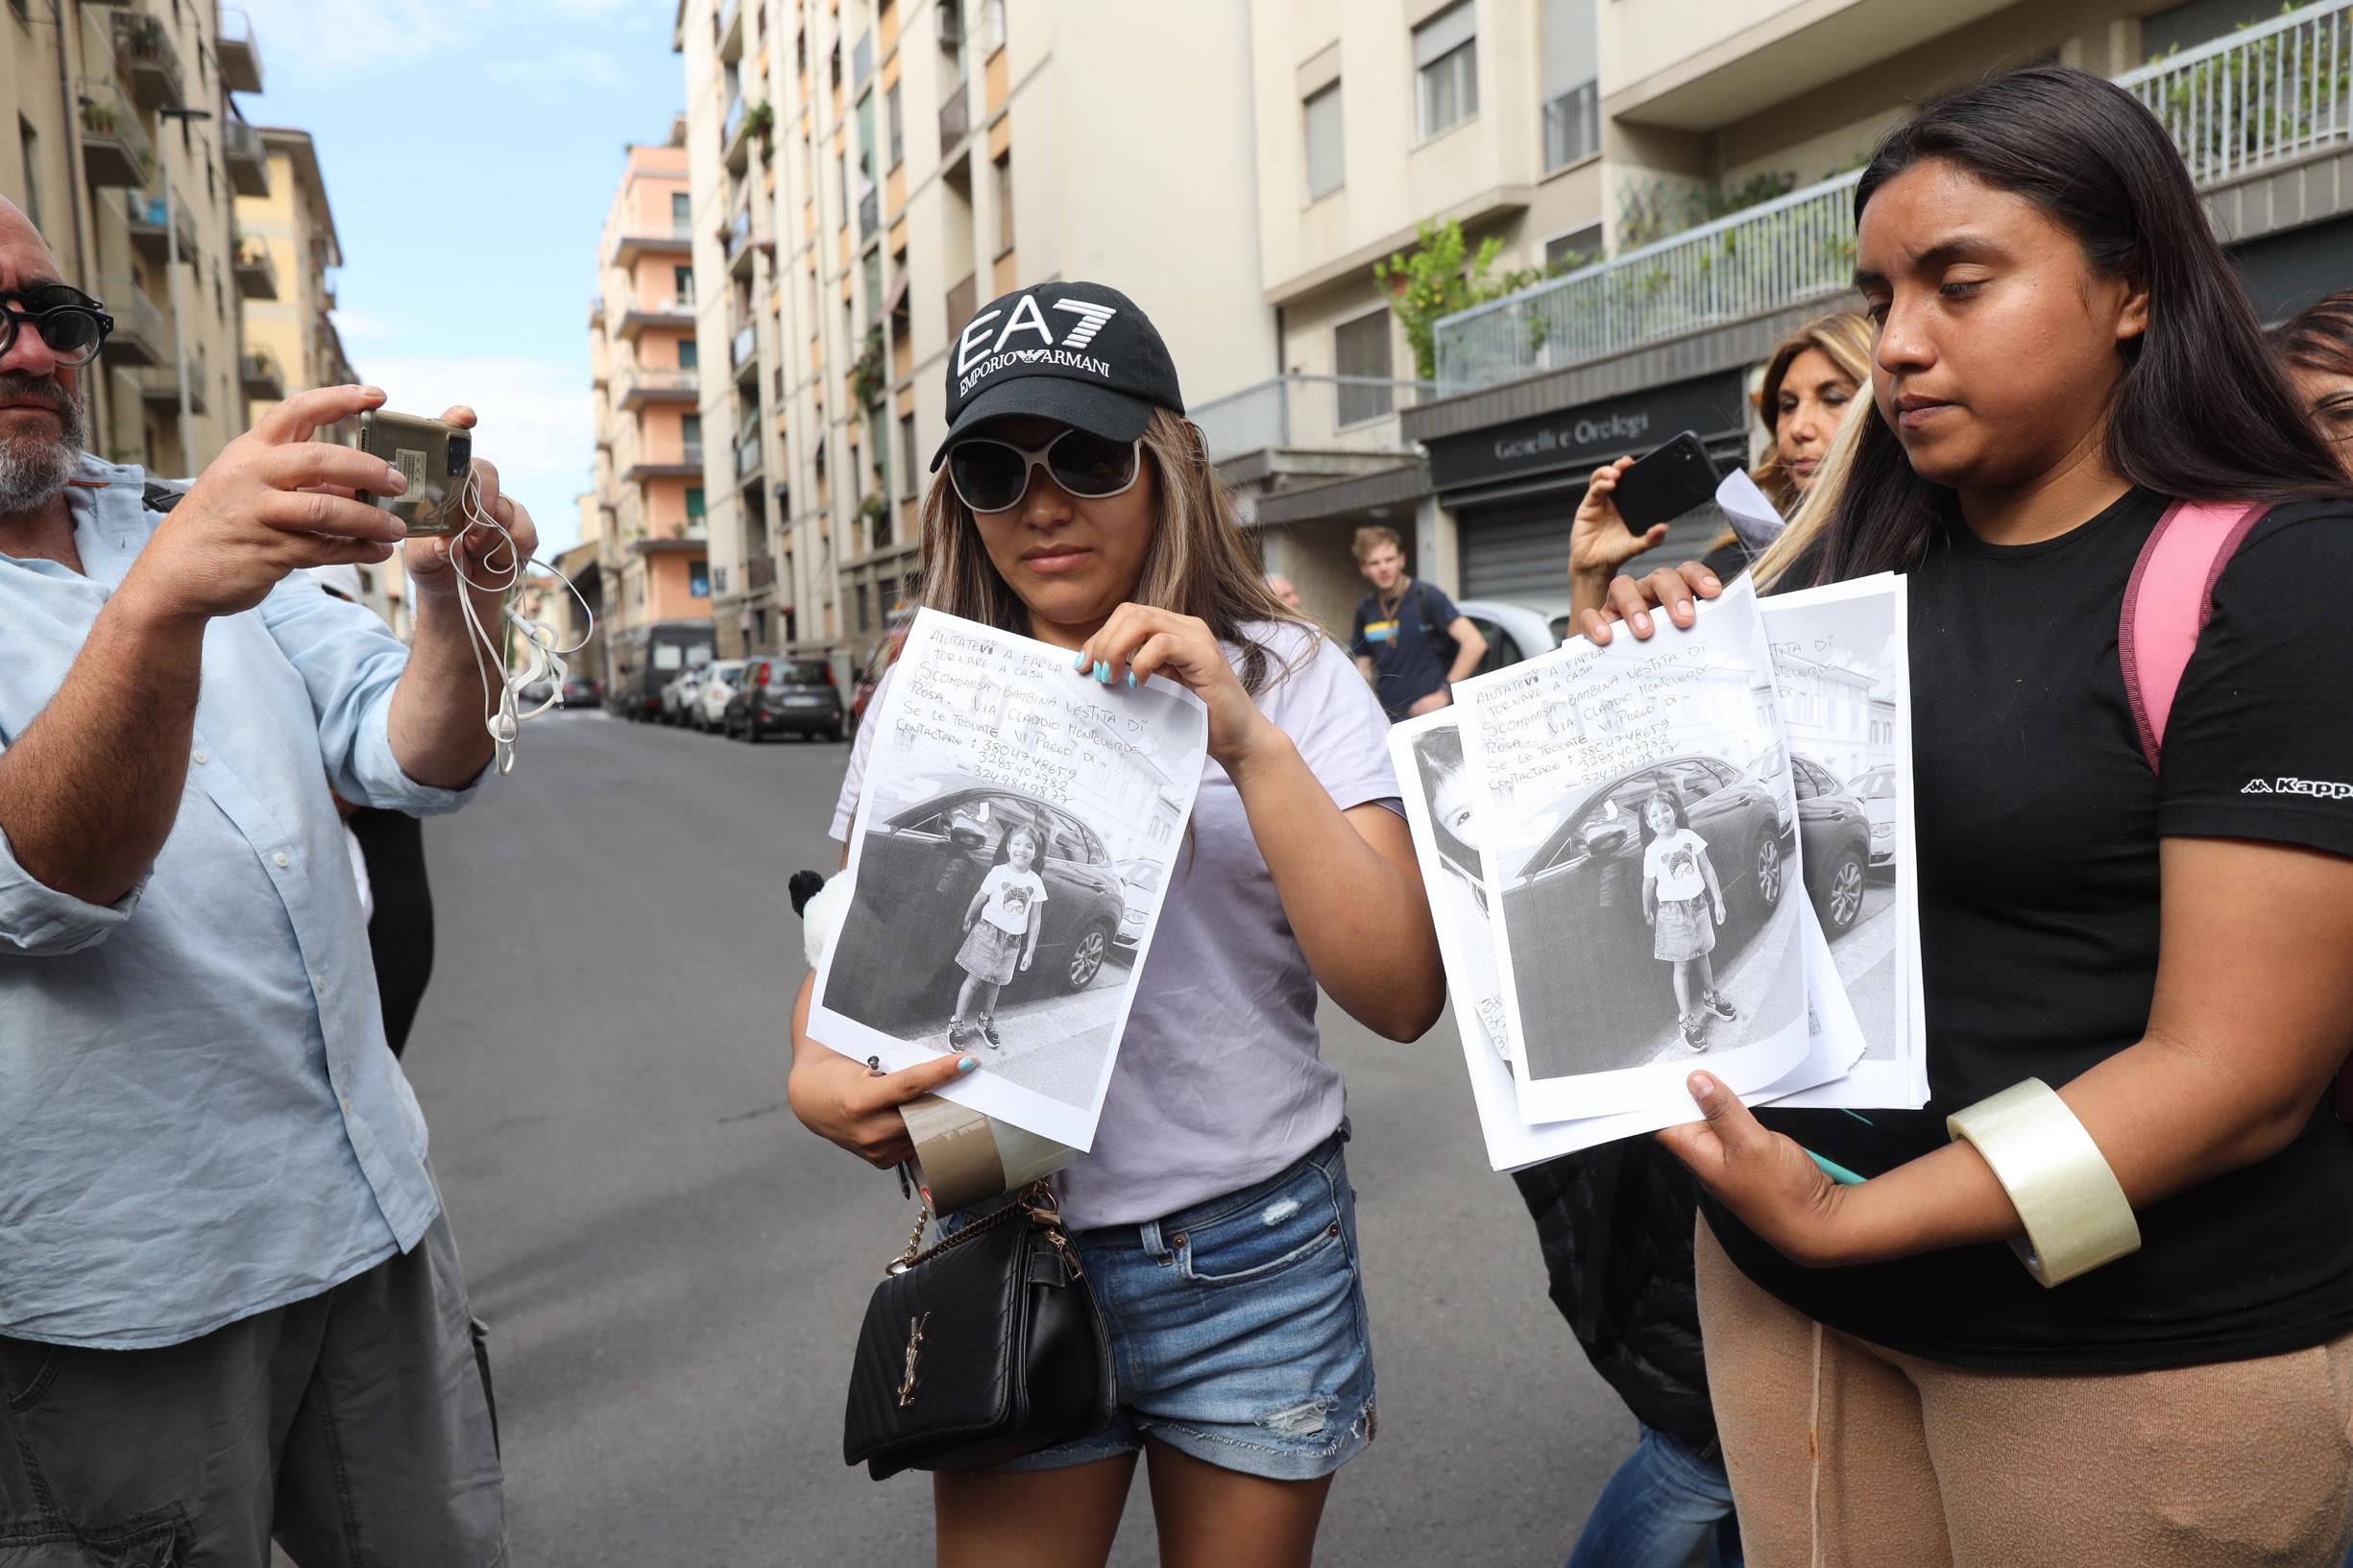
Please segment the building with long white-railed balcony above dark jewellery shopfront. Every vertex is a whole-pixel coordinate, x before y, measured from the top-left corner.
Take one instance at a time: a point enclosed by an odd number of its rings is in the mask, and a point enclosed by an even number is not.
[[[1607,259],[1438,322],[1440,395],[1402,416],[1454,520],[1464,592],[1558,595],[1600,461],[1678,430],[1744,461],[1755,367],[1857,303],[1852,202],[1873,143],[1991,71],[2064,61],[2151,106],[2266,317],[2346,287],[2348,49],[2353,0],[1609,0],[1593,165]]]

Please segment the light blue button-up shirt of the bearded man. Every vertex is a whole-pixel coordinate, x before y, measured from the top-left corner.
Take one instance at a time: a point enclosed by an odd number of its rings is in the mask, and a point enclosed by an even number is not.
[[[0,555],[0,748],[66,679],[160,512],[82,458],[82,576]],[[384,1044],[334,792],[431,813],[386,729],[407,649],[294,574],[205,630],[188,783],[115,905],[0,830],[0,1333],[141,1349],[327,1291],[424,1237],[426,1124]]]

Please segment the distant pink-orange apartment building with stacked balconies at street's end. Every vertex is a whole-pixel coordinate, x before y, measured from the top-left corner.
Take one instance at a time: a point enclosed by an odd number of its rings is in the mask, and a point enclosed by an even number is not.
[[[586,670],[607,684],[624,675],[631,632],[711,618],[685,134],[680,120],[666,143],[626,150],[588,306],[595,487],[581,538],[595,545],[593,588],[612,625],[600,639],[605,668]]]

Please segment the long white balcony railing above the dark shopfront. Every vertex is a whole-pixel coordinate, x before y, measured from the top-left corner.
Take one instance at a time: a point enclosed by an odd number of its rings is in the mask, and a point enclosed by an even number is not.
[[[2202,186],[2353,143],[2353,0],[2322,0],[2115,85],[2172,134]],[[1854,289],[1854,186],[1835,174],[1548,277],[1435,327],[1445,395],[1499,386]]]

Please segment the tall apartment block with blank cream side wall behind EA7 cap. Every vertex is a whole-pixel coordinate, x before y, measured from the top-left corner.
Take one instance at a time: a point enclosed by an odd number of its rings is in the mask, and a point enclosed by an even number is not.
[[[995,294],[1122,289],[1191,404],[1275,374],[1245,0],[682,0],[678,42],[696,275],[727,289],[704,341],[748,355],[706,397],[736,430],[722,649],[847,679],[918,599],[948,353]]]

